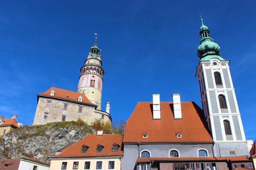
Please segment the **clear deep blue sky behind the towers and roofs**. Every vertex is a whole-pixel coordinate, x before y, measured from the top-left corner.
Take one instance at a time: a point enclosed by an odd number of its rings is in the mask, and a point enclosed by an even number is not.
[[[127,120],[137,102],[199,106],[196,54],[200,15],[230,70],[247,139],[256,138],[256,1],[4,1],[0,2],[0,115],[32,124],[37,94],[76,91],[94,33],[102,49],[102,108]]]

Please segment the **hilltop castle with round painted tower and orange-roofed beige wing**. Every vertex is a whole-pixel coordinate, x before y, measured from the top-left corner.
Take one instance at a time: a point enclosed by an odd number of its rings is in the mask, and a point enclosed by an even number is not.
[[[38,94],[33,125],[77,121],[78,119],[89,125],[93,124],[96,119],[111,124],[110,103],[106,104],[106,112],[101,110],[104,74],[101,65],[101,54],[95,42],[85,60],[85,65],[80,69],[77,92],[52,87]]]

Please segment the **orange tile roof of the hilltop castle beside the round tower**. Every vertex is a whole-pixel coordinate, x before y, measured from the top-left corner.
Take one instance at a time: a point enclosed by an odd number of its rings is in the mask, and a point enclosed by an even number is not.
[[[54,96],[50,95],[50,92],[52,90],[55,91]],[[56,97],[56,98],[61,98],[61,99],[70,100],[70,101],[74,101],[74,102],[80,102],[80,101],[78,101],[78,97],[82,96],[83,100],[80,103],[97,106],[97,105],[93,104],[92,102],[90,102],[90,100],[85,96],[85,94],[77,93],[77,92],[74,92],[74,91],[68,91],[68,90],[65,90],[65,89],[62,89],[62,88],[51,87],[46,92],[40,93],[38,95],[43,95],[43,96],[48,96],[48,97]],[[69,98],[67,98],[67,96]]]

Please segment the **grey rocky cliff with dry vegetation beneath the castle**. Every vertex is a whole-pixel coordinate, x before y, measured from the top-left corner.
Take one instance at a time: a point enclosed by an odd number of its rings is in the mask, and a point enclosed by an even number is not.
[[[56,151],[91,133],[95,133],[94,128],[80,120],[24,126],[0,139],[0,159],[36,157],[49,163],[48,157]]]

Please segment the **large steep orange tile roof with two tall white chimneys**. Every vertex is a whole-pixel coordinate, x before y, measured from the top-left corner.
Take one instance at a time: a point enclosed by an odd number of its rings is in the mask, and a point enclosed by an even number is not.
[[[123,142],[212,143],[202,109],[194,102],[181,102],[182,119],[174,119],[173,102],[160,102],[161,119],[153,120],[152,102],[139,102],[126,121]],[[142,134],[147,134],[143,138]],[[181,133],[182,137],[177,137]]]

